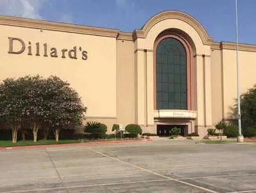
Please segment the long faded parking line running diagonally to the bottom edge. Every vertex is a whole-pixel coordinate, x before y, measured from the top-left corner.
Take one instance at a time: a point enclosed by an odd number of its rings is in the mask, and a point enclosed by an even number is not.
[[[126,164],[126,165],[129,165],[129,166],[138,168],[138,169],[140,169],[140,170],[142,170],[142,171],[145,171],[145,172],[147,172],[147,173],[155,174],[156,176],[160,176],[160,177],[162,177],[162,178],[165,178],[165,179],[168,179],[168,180],[172,180],[172,181],[177,181],[177,182],[179,182],[179,183],[183,183],[183,184],[189,185],[189,186],[194,187],[194,188],[196,188],[196,189],[200,189],[200,190],[204,190],[204,191],[212,192],[212,193],[218,193],[218,192],[216,192],[216,191],[214,191],[214,190],[206,189],[206,188],[204,188],[204,187],[200,187],[200,186],[198,186],[198,185],[194,185],[194,184],[188,183],[188,182],[186,182],[186,181],[180,181],[180,180],[177,180],[177,179],[175,179],[175,178],[170,178],[170,177],[168,177],[168,176],[164,176],[164,175],[162,175],[162,174],[156,173],[156,172],[151,171],[151,170],[149,170],[149,169],[145,169],[145,168],[143,168],[143,167],[136,166],[136,165],[131,164],[131,163],[129,163],[129,162],[125,162],[125,161],[120,160],[120,159],[118,159],[118,158],[116,158],[116,157],[110,157],[110,156],[106,155],[105,153],[102,153],[102,152],[97,151],[97,150],[93,150],[93,148],[89,148],[89,150],[94,151],[95,153],[99,153],[100,155],[103,155],[104,157],[108,157],[108,158],[111,158],[111,159],[113,159],[113,160],[116,160],[117,162],[121,162],[121,163],[123,163],[123,164]]]

